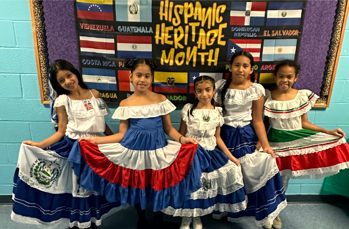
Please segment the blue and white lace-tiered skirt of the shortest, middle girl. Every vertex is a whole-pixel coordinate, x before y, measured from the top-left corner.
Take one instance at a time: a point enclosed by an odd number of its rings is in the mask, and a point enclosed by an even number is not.
[[[191,194],[181,206],[162,212],[173,216],[203,216],[213,211],[239,212],[247,206],[241,167],[235,165],[217,147],[209,150],[210,166],[201,176],[202,188]]]

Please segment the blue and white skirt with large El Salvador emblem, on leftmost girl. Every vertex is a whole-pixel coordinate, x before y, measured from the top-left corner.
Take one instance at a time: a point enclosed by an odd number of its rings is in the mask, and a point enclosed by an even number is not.
[[[13,210],[17,222],[45,228],[88,228],[123,209],[79,186],[67,156],[75,139],[62,137],[46,150],[21,145],[14,176]]]

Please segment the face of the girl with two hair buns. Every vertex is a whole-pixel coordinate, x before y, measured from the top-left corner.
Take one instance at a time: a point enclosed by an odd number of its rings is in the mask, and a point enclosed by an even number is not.
[[[152,86],[152,70],[147,64],[139,64],[129,78],[139,92],[145,92]]]

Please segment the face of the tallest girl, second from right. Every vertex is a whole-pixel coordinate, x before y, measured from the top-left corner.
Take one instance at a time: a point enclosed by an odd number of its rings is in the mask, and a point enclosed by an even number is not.
[[[251,61],[248,57],[238,56],[234,59],[232,64],[229,64],[229,71],[234,81],[241,83],[253,72]]]

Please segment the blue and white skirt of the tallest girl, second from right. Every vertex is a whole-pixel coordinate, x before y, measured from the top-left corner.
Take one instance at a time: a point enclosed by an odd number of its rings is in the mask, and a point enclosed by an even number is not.
[[[270,154],[256,151],[258,137],[250,124],[236,128],[224,124],[221,127],[221,137],[229,151],[240,161],[248,203],[241,212],[216,212],[213,218],[228,214],[231,222],[254,218],[257,226],[272,224],[287,205],[276,161]]]

